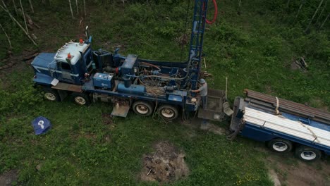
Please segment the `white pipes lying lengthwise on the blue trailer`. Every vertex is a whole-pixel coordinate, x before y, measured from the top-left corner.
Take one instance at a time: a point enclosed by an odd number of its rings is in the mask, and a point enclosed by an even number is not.
[[[323,144],[330,147],[330,132],[319,128],[314,128],[310,125],[305,125],[299,121],[284,118],[281,115],[272,115],[245,107],[243,119],[254,125],[259,125],[263,128],[276,130],[287,135],[292,135],[305,140]]]

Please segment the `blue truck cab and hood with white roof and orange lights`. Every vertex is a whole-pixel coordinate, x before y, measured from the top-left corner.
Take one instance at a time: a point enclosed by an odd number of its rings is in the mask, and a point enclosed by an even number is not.
[[[92,49],[89,42],[68,42],[56,54],[39,54],[31,63],[35,70],[34,82],[39,85],[56,85],[66,82],[82,85],[85,73],[92,68]]]

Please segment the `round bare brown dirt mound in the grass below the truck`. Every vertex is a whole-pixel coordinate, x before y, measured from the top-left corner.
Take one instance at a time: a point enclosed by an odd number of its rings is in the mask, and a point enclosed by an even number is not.
[[[178,151],[169,142],[159,142],[154,145],[154,149],[153,154],[143,156],[141,180],[172,182],[188,175],[189,169],[182,151]]]

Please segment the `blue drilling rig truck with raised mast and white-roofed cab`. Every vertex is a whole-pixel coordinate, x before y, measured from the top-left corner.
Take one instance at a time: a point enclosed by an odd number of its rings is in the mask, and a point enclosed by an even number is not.
[[[32,62],[33,81],[44,87],[44,97],[51,101],[61,101],[69,95],[80,105],[97,100],[112,102],[113,116],[126,117],[131,108],[142,116],[157,110],[165,120],[173,120],[179,113],[186,117],[201,104],[200,97],[189,90],[197,89],[200,78],[207,2],[195,1],[185,62],[151,61],[134,54],[121,56],[118,49],[114,53],[93,51],[86,29],[85,41],[68,42],[56,54],[39,54]],[[200,111],[200,116],[224,119],[224,92],[209,89],[209,99],[216,104]]]

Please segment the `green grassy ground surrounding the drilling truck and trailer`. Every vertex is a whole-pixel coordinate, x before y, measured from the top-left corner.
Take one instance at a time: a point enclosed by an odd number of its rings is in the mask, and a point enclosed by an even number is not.
[[[326,109],[330,105],[329,30],[312,30],[305,35],[303,24],[291,20],[286,11],[271,9],[274,4],[242,4],[238,15],[234,2],[219,3],[219,20],[207,26],[204,36],[206,70],[214,75],[207,80],[209,86],[224,89],[228,77],[230,100],[249,88]],[[66,9],[57,7],[36,7],[32,17],[42,27],[33,31],[41,51],[56,51],[69,39],[81,37],[89,25],[94,49],[113,51],[121,46],[122,54],[139,54],[141,58],[187,58],[188,50],[182,49],[177,39],[190,32],[189,21],[183,30],[185,3],[91,4],[82,25],[80,18],[71,20]],[[13,35],[18,32],[16,27],[11,29]],[[16,54],[33,48],[13,40]],[[309,65],[305,72],[290,68],[300,56],[305,56]],[[265,159],[275,157],[289,166],[298,162],[260,151],[264,144],[240,137],[228,142],[225,136],[133,113],[128,118],[110,118],[110,104],[79,107],[69,101],[44,101],[32,88],[30,66],[18,63],[0,76],[0,173],[19,170],[19,185],[157,185],[141,182],[138,174],[142,155],[162,140],[183,149],[190,168],[188,178],[173,185],[272,185],[267,172],[269,166],[276,170],[276,163]],[[37,116],[45,116],[53,124],[46,135],[35,136],[32,131],[30,121]],[[217,125],[225,127],[227,123]],[[309,167],[319,168],[324,163],[329,160]],[[41,168],[36,171],[38,165]],[[277,173],[284,180],[289,174]],[[322,175],[329,180],[326,177]]]

